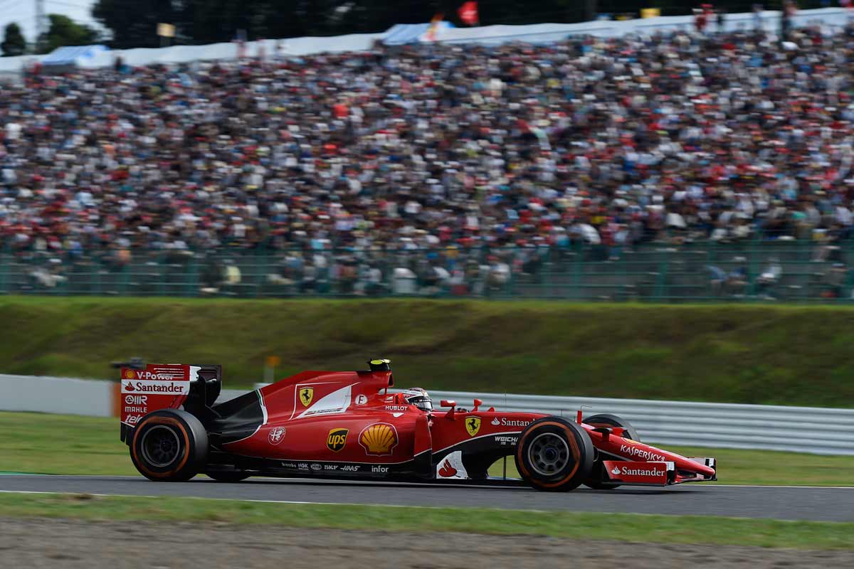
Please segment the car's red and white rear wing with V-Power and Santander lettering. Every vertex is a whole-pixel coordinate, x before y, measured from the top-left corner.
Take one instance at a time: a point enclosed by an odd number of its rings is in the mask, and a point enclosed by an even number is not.
[[[149,363],[132,359],[113,363],[120,369],[120,438],[130,441],[137,423],[152,411],[179,407],[207,422],[222,389],[222,366]]]

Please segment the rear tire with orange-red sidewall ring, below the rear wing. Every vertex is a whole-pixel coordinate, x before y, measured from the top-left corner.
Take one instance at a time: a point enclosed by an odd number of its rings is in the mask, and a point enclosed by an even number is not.
[[[145,478],[184,482],[208,459],[208,433],[195,416],[180,409],[145,415],[133,430],[131,460]]]

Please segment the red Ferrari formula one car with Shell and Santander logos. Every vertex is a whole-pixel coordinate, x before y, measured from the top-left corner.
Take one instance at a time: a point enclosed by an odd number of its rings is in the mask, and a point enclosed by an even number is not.
[[[578,485],[672,485],[715,480],[715,460],[686,458],[638,440],[614,415],[576,421],[541,413],[471,409],[395,385],[388,360],[367,371],[305,371],[216,404],[219,365],[121,367],[121,440],[140,473],[187,480],[196,473],[249,476],[451,480],[506,485],[488,468],[512,456],[538,490]]]

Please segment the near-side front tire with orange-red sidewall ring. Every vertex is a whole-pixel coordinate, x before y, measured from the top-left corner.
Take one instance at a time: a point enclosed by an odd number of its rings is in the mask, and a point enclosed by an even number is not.
[[[516,468],[541,491],[570,491],[590,476],[594,447],[588,433],[562,417],[543,417],[525,427],[516,444]]]

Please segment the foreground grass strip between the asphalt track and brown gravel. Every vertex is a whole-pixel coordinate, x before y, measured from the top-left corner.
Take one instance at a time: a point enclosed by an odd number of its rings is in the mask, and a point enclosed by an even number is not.
[[[493,508],[305,505],[201,498],[0,494],[0,516],[211,521],[373,531],[461,531],[653,543],[851,549],[854,524],[709,516],[584,514]],[[619,528],[615,531],[614,528]]]

